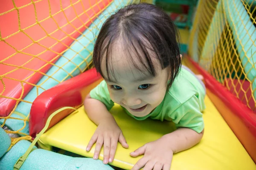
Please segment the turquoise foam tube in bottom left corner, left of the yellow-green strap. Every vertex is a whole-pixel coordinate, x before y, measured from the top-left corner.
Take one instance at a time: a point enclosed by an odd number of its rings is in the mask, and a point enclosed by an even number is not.
[[[31,142],[26,140],[17,142],[0,158],[0,170],[13,170],[16,161],[26,152],[30,144]],[[36,147],[34,146],[33,149],[36,149]]]

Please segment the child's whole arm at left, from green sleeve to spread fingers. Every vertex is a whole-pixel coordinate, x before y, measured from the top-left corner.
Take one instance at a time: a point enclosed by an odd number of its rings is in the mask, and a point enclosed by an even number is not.
[[[112,107],[113,102],[110,99],[105,81],[102,81],[84,99],[84,109],[89,119],[98,126],[86,150],[90,151],[93,144],[96,143],[93,159],[98,159],[99,152],[102,145],[104,145],[104,164],[113,161],[117,142],[120,142],[125,148],[128,147],[121,129],[116,124],[112,114],[108,111]]]

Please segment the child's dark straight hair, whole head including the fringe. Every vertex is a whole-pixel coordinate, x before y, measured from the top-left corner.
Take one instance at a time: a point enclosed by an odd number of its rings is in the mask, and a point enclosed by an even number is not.
[[[122,42],[128,43],[126,46],[136,52],[136,57],[152,76],[156,76],[156,71],[148,49],[154,51],[162,69],[168,68],[168,90],[181,67],[180,36],[169,15],[147,3],[131,4],[111,15],[99,31],[93,50],[94,66],[103,78],[110,79],[109,71],[113,71],[113,67],[111,69],[109,66],[111,46],[120,38],[126,39]],[[101,70],[103,55],[106,59],[107,77],[104,77]],[[132,56],[129,56],[135,67],[142,71]]]

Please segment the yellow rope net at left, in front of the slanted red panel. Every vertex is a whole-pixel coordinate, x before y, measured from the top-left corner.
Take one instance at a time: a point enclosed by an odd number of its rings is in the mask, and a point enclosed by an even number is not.
[[[32,140],[29,134],[22,132],[29,123],[29,113],[24,114],[22,109],[17,111],[20,103],[31,108],[33,101],[25,98],[29,91],[35,88],[35,96],[38,96],[47,90],[44,84],[49,80],[56,85],[88,69],[99,25],[120,6],[138,2],[139,0],[1,2],[0,126],[10,134],[11,147],[22,139]],[[107,13],[101,16],[104,11]],[[66,52],[69,55],[65,55]],[[76,61],[77,57],[80,57],[80,62]],[[64,62],[58,65],[56,61],[60,58]],[[73,64],[72,69],[66,67],[70,63]],[[52,67],[56,69],[47,74]],[[58,71],[66,76],[61,79],[54,77]],[[39,81],[42,77],[45,78]],[[13,95],[15,93],[16,96]],[[11,119],[22,121],[23,127],[13,130],[7,123]]]

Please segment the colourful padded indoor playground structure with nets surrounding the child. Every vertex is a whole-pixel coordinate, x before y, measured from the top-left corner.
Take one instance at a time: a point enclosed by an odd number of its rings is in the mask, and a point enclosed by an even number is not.
[[[128,170],[141,158],[131,151],[175,130],[115,105],[129,148],[118,144],[110,165],[86,151],[96,125],[83,101],[102,80],[93,43],[113,12],[142,2],[189,7],[183,64],[207,88],[204,137],[171,169],[256,170],[256,0],[1,0],[0,170]]]

